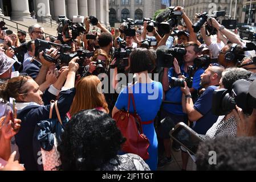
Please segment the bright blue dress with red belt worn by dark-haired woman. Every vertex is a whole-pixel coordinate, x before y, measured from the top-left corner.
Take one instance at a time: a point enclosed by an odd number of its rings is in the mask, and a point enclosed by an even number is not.
[[[132,93],[135,99],[137,113],[140,115],[142,122],[152,121],[155,119],[157,112],[160,110],[162,103],[162,84],[153,81],[149,84],[137,83],[132,86]],[[125,88],[119,94],[116,101],[116,108],[119,110],[128,109],[128,88]],[[130,103],[130,112],[133,113],[132,100]],[[149,159],[145,162],[155,171],[157,169],[157,137],[154,123],[143,125],[143,133],[148,137],[150,146],[148,148]]]

